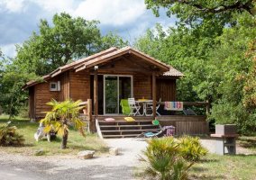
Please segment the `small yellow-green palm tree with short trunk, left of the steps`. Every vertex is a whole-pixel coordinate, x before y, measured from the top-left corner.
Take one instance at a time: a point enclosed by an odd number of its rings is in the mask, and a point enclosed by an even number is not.
[[[67,148],[69,137],[69,125],[74,125],[80,133],[85,136],[83,127],[85,122],[79,119],[79,111],[84,108],[80,106],[81,100],[73,102],[72,100],[66,100],[64,102],[57,102],[52,99],[48,105],[52,106],[50,112],[47,112],[45,118],[41,120],[45,124],[45,132],[50,130],[57,131],[62,136],[62,142],[60,148]]]

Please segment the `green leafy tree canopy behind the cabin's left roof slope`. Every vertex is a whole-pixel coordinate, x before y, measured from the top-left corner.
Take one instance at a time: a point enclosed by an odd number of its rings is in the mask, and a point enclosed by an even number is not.
[[[12,117],[27,105],[28,92],[22,87],[29,80],[40,79],[78,58],[128,44],[111,31],[103,36],[98,23],[66,13],[55,14],[52,24],[41,20],[39,32],[33,31],[22,45],[16,45],[16,57],[4,58],[0,51],[0,59],[5,59],[5,63],[0,61],[0,105],[4,112]]]

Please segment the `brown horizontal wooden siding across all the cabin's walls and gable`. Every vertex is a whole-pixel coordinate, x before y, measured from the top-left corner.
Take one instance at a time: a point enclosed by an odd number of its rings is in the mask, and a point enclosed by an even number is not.
[[[149,65],[139,63],[136,59],[119,58],[99,66],[98,74],[131,75],[133,76],[133,96],[136,99],[142,97],[152,99],[152,72],[145,70]],[[60,80],[61,91],[50,92],[50,82]],[[175,100],[176,83],[174,79],[156,79],[157,100]],[[90,72],[83,70],[75,72],[69,70],[59,76],[53,77],[49,82],[34,85],[34,114],[36,118],[43,116],[43,112],[50,111],[45,103],[52,98],[64,101],[68,98],[74,101],[80,99],[87,101],[90,95]],[[32,107],[30,107],[32,109]]]

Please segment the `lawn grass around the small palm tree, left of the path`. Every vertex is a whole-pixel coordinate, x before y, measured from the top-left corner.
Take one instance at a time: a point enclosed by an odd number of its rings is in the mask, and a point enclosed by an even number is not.
[[[8,116],[0,116],[0,125],[8,121]],[[47,139],[42,139],[37,142],[33,135],[36,132],[39,123],[31,122],[28,119],[15,118],[12,124],[18,128],[18,132],[24,136],[25,145],[23,147],[0,147],[8,153],[19,153],[22,155],[33,156],[36,151],[42,149],[45,155],[76,155],[81,150],[96,150],[96,155],[103,154],[107,151],[107,147],[103,140],[97,139],[96,134],[87,133],[87,137],[81,136],[77,130],[69,129],[68,148],[60,149],[61,139],[48,142]]]

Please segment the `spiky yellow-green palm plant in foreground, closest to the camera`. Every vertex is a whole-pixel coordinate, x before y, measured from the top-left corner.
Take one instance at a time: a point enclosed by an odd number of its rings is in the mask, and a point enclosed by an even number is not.
[[[191,166],[183,157],[179,156],[178,142],[172,137],[151,139],[144,151],[147,163],[146,175],[161,180],[187,179],[187,169]]]

